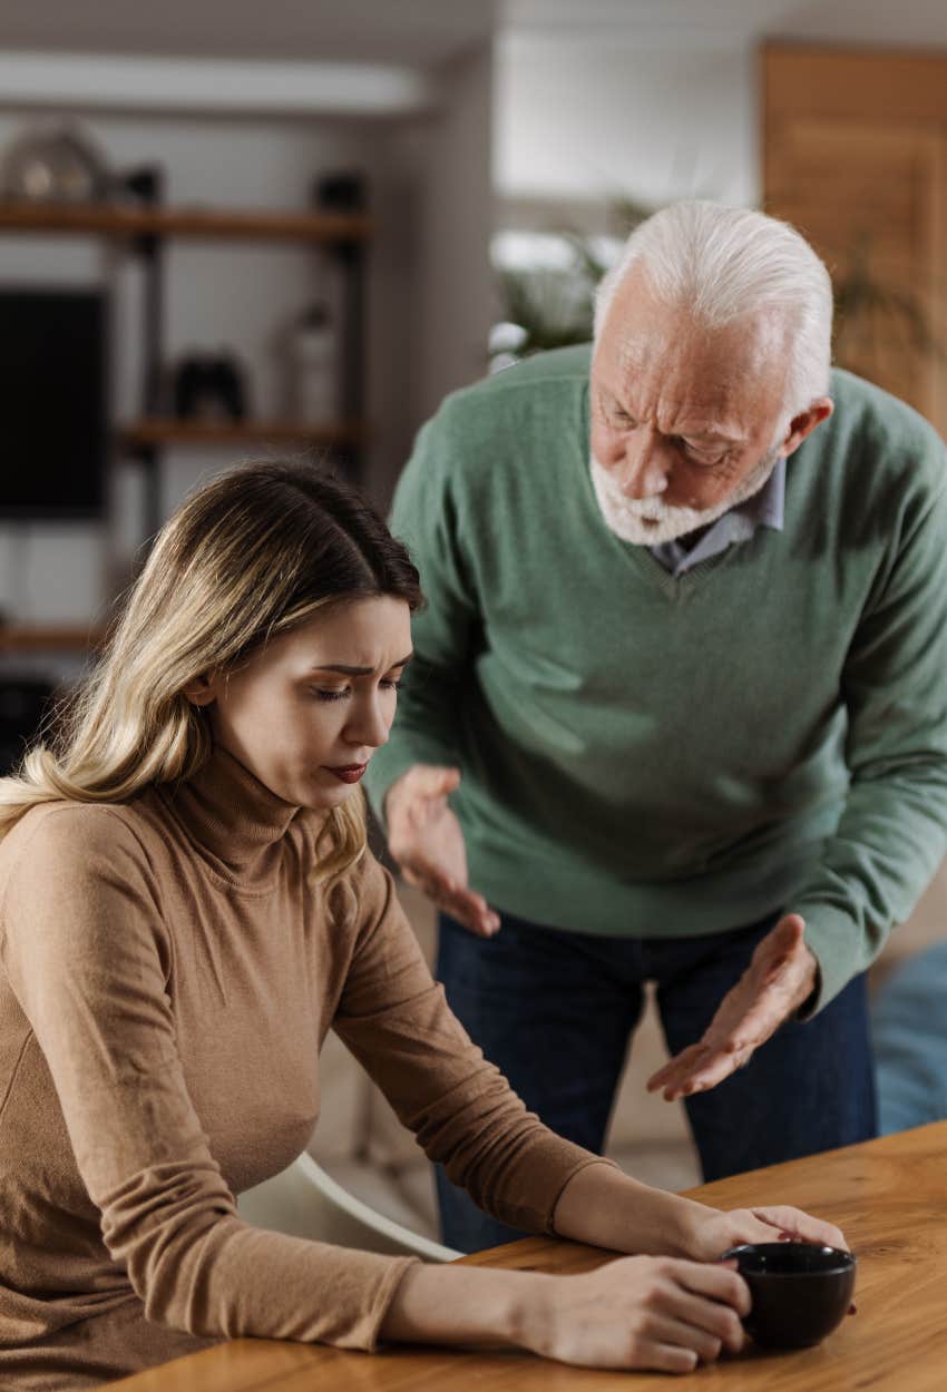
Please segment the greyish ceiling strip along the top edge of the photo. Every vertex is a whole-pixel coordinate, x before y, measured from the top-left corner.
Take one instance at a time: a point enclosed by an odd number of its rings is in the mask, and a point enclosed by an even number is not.
[[[439,67],[503,32],[947,47],[944,0],[0,0],[0,50]]]

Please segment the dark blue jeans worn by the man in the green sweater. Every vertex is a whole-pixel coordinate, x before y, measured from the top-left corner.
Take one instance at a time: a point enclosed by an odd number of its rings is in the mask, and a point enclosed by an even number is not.
[[[441,915],[437,976],[526,1107],[600,1154],[643,983],[656,983],[677,1054],[701,1038],[777,917],[694,938],[603,938],[504,915],[494,938],[478,938]],[[685,1107],[706,1182],[875,1136],[863,977],[811,1020],[784,1025],[745,1068]],[[478,1251],[524,1236],[482,1212],[440,1166],[437,1196],[451,1247]]]

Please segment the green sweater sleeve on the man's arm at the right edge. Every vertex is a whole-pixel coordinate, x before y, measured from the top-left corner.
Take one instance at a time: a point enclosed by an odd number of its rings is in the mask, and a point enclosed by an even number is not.
[[[905,509],[843,671],[851,784],[787,909],[806,920],[822,1008],[877,955],[947,851],[947,489]]]

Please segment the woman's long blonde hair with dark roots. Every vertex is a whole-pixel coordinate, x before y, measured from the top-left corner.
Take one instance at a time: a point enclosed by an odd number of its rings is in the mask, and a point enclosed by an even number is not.
[[[191,778],[210,753],[184,695],[333,601],[421,603],[405,548],[347,483],[302,461],[248,464],[188,498],[159,533],[100,661],[14,777],[0,838],[38,803],[123,803]],[[331,888],[365,851],[361,791],[329,813],[318,878]]]

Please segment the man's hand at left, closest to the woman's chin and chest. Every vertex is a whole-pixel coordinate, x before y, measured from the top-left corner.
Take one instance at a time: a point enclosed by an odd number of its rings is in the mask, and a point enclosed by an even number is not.
[[[500,919],[467,884],[464,832],[447,805],[460,781],[460,768],[415,764],[391,784],[384,799],[389,849],[408,884],[471,933],[490,938]]]

